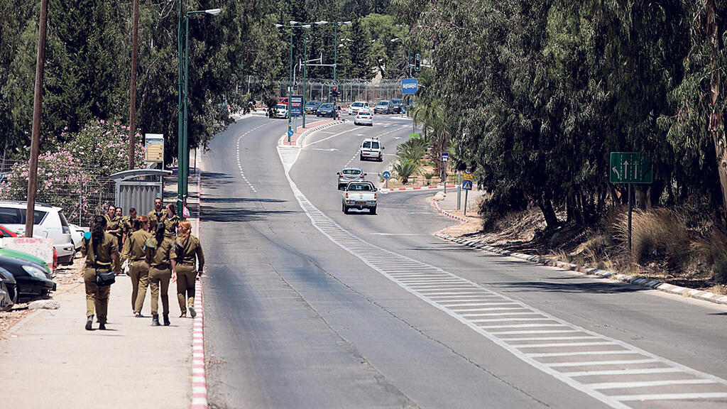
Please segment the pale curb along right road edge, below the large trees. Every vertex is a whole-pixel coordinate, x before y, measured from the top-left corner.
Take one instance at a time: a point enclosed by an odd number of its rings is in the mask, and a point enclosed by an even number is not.
[[[434,201],[433,201],[434,202]],[[435,205],[438,207],[438,205]],[[440,211],[440,213],[446,213]],[[550,258],[541,257],[539,255],[528,255],[523,253],[516,253],[510,250],[505,250],[499,247],[491,245],[485,245],[474,240],[461,239],[458,237],[451,237],[448,234],[442,234],[440,231],[434,234],[435,237],[440,239],[448,240],[460,245],[473,247],[478,250],[487,250],[491,253],[497,253],[509,257],[519,258],[524,261],[530,261],[531,263],[542,264],[544,266],[558,267],[565,270],[577,271],[582,274],[596,276],[604,279],[614,279],[616,281],[625,282],[631,285],[638,285],[639,287],[649,288],[651,290],[659,290],[664,293],[682,295],[683,297],[696,298],[702,301],[710,301],[710,303],[724,304],[727,305],[727,295],[720,295],[710,293],[709,291],[694,290],[693,288],[679,287],[678,285],[668,284],[666,282],[660,282],[652,279],[643,277],[630,276],[627,274],[619,274],[614,271],[606,271],[601,269],[593,269],[587,266],[578,266],[577,264],[563,263],[563,261],[550,260]]]

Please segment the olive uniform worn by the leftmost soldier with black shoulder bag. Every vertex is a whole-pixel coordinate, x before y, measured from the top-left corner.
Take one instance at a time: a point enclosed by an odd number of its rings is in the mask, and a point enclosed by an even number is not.
[[[84,266],[86,317],[91,317],[95,309],[98,322],[105,324],[108,314],[108,295],[111,294],[111,285],[97,285],[96,269],[111,270],[113,256],[116,256],[117,260],[119,259],[119,242],[116,241],[116,237],[104,232],[103,239],[96,248],[94,248],[93,238],[84,240],[81,244],[81,253],[87,255]]]

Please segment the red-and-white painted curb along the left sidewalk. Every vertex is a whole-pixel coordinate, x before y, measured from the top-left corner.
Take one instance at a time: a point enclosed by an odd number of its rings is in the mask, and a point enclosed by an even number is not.
[[[199,158],[197,158],[199,163]],[[199,226],[202,223],[202,184],[201,184],[201,169],[197,166],[197,197],[198,203],[198,215],[197,223],[195,226],[195,235],[199,237]],[[204,356],[204,291],[203,281],[200,278],[196,285],[195,297],[194,297],[194,309],[197,312],[197,317],[194,318],[194,325],[192,329],[192,400],[190,402],[190,409],[207,409],[207,372],[205,368],[205,356]]]

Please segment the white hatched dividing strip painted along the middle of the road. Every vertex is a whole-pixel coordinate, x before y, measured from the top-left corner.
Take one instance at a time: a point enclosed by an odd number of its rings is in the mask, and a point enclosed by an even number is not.
[[[403,290],[543,373],[611,408],[630,408],[627,402],[642,400],[727,398],[727,381],[723,378],[571,324],[476,282],[366,242],[313,206],[295,185],[289,171],[297,153],[278,148],[278,154],[300,207],[324,236]],[[522,320],[523,316],[537,322]],[[491,321],[491,317],[507,320]],[[663,389],[648,390],[675,377],[699,382],[670,384],[668,394],[662,393]],[[611,385],[623,387],[609,388]]]

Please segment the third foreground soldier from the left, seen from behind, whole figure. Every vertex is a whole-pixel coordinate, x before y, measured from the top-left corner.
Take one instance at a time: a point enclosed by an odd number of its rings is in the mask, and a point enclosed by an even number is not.
[[[164,325],[169,325],[169,280],[177,279],[174,259],[177,255],[172,250],[174,240],[164,237],[164,223],[157,223],[154,237],[145,244],[146,262],[149,264],[149,287],[151,288],[151,325],[159,325],[159,293],[161,288],[161,306],[164,314]]]

